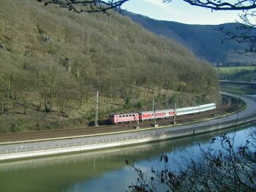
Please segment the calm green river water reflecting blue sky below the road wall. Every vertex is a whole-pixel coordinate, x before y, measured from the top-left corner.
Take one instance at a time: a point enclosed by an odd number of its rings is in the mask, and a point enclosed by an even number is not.
[[[236,131],[236,145],[244,143],[256,123],[242,126]],[[233,136],[233,130],[224,131]],[[184,157],[200,154],[199,143],[207,147],[213,137],[223,132],[197,137],[167,140],[104,153],[79,153],[0,164],[0,191],[127,191],[137,177],[125,164],[125,159],[143,172],[162,169],[160,155],[167,154],[169,166],[177,169]],[[219,146],[216,145],[216,148]]]

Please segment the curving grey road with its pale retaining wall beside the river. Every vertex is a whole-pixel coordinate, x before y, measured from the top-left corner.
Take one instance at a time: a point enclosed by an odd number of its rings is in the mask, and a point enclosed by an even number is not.
[[[230,94],[227,94],[227,96],[238,98],[238,96]],[[0,161],[93,150],[102,150],[102,153],[104,153],[104,150],[110,147],[140,145],[145,142],[156,142],[178,137],[193,137],[195,134],[204,134],[230,127],[236,129],[237,126],[256,120],[256,101],[245,96],[241,96],[241,99],[246,103],[246,107],[243,110],[226,115],[225,117],[211,118],[197,123],[148,128],[143,129],[143,131],[131,131],[121,134],[102,134],[91,137],[74,137],[72,139],[1,145]]]

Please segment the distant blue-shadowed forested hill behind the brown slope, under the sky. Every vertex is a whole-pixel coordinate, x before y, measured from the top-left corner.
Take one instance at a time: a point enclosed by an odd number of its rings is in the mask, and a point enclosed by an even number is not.
[[[149,31],[176,39],[189,47],[197,57],[204,58],[213,65],[251,66],[256,64],[254,55],[238,54],[245,50],[244,45],[233,40],[227,40],[225,34],[220,31],[220,28],[225,28],[225,31],[238,30],[237,23],[188,25],[173,21],[154,20],[132,12],[123,12],[122,14],[128,15]]]

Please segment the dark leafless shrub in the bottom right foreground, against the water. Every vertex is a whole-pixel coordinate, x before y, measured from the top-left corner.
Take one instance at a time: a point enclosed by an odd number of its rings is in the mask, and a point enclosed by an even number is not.
[[[250,139],[241,145],[235,143],[236,133],[214,137],[206,149],[200,147],[202,153],[197,158],[187,156],[187,163],[178,170],[169,167],[170,161],[162,153],[164,168],[152,167],[150,180],[145,172],[126,161],[138,174],[129,191],[159,191],[159,186],[168,191],[255,191],[255,130],[250,130]]]

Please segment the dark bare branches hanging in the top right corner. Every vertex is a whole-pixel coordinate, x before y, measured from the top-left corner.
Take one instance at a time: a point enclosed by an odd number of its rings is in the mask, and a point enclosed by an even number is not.
[[[225,39],[235,40],[241,45],[244,45],[244,50],[237,51],[238,53],[256,53],[256,0],[236,0],[236,1],[223,1],[223,0],[183,0],[192,6],[203,7],[215,11],[242,11],[239,17],[241,22],[236,24],[235,29],[219,28],[223,34],[226,35]],[[171,0],[163,0],[164,3],[170,3]]]

